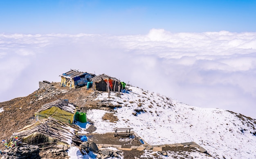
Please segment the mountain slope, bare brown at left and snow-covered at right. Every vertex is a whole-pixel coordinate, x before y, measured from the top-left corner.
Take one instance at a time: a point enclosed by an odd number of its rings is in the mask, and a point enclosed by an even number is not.
[[[193,141],[215,158],[256,158],[256,120],[242,114],[192,107],[132,86],[121,96],[111,92],[110,98],[108,93],[101,92],[94,97],[94,91],[85,87],[66,89],[52,83],[52,87],[38,89],[27,97],[1,102],[1,139],[35,122],[34,112],[41,105],[62,98],[79,106],[81,111],[87,111],[88,119],[96,127],[94,133],[112,133],[115,127],[132,127],[150,145]],[[115,120],[103,120],[110,112],[114,113]]]

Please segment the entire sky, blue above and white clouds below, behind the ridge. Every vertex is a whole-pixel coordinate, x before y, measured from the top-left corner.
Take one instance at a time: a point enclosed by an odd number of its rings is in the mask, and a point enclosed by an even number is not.
[[[70,69],[256,118],[256,0],[0,0],[0,102]]]

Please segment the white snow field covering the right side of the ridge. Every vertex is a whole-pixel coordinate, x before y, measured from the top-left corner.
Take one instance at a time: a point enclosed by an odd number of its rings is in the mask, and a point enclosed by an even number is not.
[[[108,111],[88,111],[87,117],[97,127],[95,133],[112,132],[115,127],[132,127],[150,145],[193,141],[216,158],[256,158],[254,119],[223,109],[192,107],[137,87],[129,89],[121,97],[116,93],[111,93],[110,98],[108,93],[97,96],[96,100],[121,105],[121,108],[115,109],[117,123],[102,120]]]

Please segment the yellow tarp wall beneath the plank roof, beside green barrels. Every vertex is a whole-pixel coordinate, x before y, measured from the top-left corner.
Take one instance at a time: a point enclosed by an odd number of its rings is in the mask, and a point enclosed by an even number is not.
[[[39,120],[51,116],[52,118],[59,120],[61,122],[65,122],[67,124],[69,123],[69,120],[70,123],[73,123],[74,119],[74,114],[64,111],[58,107],[51,107],[49,109],[37,112],[35,113],[35,115],[38,116]]]

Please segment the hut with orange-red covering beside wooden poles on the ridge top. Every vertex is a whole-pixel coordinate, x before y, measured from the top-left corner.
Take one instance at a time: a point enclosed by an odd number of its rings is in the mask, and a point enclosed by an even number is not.
[[[108,91],[108,85],[110,91],[118,91],[118,86],[120,85],[120,80],[106,74],[95,76],[91,79],[91,81],[92,88],[96,89],[97,91]]]

